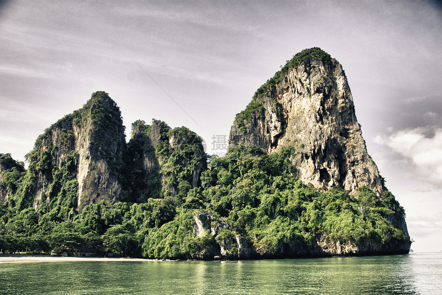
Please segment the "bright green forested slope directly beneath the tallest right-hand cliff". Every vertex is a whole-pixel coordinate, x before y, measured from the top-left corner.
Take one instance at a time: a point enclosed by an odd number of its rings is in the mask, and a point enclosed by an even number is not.
[[[212,160],[202,175],[208,209],[248,241],[276,252],[294,241],[309,248],[320,233],[341,243],[406,239],[386,220],[393,210],[403,212],[390,192],[384,193],[383,203],[367,187],[360,189],[358,199],[339,189],[320,193],[294,176],[296,168],[288,161],[293,153],[290,148],[267,155],[257,148],[235,147],[225,158]],[[358,206],[366,208],[364,217]]]

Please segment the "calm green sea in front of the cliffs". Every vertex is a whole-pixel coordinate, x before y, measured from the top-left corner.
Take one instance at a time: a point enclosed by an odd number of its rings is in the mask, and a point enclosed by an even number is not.
[[[0,294],[442,294],[442,253],[0,263]]]

